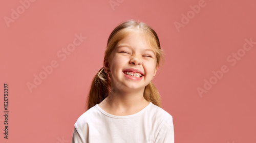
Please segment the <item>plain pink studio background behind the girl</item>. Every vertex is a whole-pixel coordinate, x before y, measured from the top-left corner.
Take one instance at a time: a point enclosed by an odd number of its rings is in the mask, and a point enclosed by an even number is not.
[[[106,41],[115,26],[130,19],[151,25],[160,38],[165,64],[154,83],[162,108],[173,116],[175,142],[255,142],[256,44],[245,39],[256,41],[256,2],[113,0],[114,7],[102,0],[25,2],[0,5],[0,142],[71,142]],[[58,57],[80,33],[87,38],[66,59]],[[27,82],[34,83],[34,74],[52,61],[58,66],[30,92]],[[9,139],[3,134],[4,83]]]

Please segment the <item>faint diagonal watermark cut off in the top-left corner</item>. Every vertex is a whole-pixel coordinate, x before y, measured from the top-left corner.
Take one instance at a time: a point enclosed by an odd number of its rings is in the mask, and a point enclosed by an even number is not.
[[[5,16],[4,20],[8,27],[10,27],[10,23],[14,22],[16,19],[19,18],[20,14],[25,12],[25,9],[28,9],[31,3],[35,2],[35,0],[20,0],[19,3],[21,4],[16,8],[16,10],[11,9],[12,13],[10,17]]]

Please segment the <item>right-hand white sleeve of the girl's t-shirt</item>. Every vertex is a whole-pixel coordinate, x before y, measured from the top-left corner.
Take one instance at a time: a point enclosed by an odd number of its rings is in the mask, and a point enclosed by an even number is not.
[[[160,125],[155,143],[174,143],[173,118],[168,118]]]

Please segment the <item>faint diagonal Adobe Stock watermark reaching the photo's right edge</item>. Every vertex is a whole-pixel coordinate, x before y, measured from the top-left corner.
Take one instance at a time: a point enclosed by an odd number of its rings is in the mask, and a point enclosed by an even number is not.
[[[240,61],[243,56],[245,56],[246,52],[251,50],[251,48],[256,44],[256,41],[252,41],[252,38],[244,39],[245,43],[243,47],[238,49],[237,52],[232,52],[229,56],[227,56],[227,62],[233,67],[237,64],[237,61]],[[227,65],[222,65],[220,70],[212,71],[212,76],[209,80],[204,79],[203,88],[198,87],[197,92],[199,96],[202,98],[203,93],[207,93],[213,85],[215,85],[221,78],[223,78],[224,73],[227,73],[229,68]]]

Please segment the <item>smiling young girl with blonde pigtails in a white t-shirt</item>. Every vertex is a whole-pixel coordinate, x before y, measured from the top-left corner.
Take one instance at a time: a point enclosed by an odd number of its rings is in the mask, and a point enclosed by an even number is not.
[[[174,143],[173,118],[161,108],[152,83],[162,60],[158,36],[150,26],[133,20],[118,25],[72,142]]]

